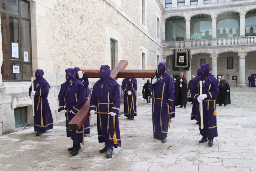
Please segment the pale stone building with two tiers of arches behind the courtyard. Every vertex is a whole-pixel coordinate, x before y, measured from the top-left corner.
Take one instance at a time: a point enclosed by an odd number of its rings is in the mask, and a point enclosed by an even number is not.
[[[248,76],[256,74],[254,0],[185,0],[183,4],[172,0],[171,5],[165,4],[170,1],[161,2],[164,7],[172,6],[164,8],[162,21],[164,57],[171,75],[179,75],[179,71],[172,70],[173,49],[190,48],[191,69],[183,72],[187,80],[196,75],[203,60],[210,64],[214,76],[224,75],[231,87],[248,86]],[[176,32],[175,24],[179,27]],[[201,38],[194,39],[195,34],[201,34]]]

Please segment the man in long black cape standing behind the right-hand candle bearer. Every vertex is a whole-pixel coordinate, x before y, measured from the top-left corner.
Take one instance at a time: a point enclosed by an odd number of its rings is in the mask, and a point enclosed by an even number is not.
[[[221,76],[220,78],[218,103],[219,106],[222,104],[224,104],[224,106],[227,104],[230,105],[230,87],[227,80],[225,80],[225,76]]]

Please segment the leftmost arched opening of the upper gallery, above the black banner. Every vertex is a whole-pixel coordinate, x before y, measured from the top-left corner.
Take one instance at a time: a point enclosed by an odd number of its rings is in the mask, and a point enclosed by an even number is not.
[[[185,40],[186,27],[184,17],[170,17],[165,23],[165,41],[181,41]]]

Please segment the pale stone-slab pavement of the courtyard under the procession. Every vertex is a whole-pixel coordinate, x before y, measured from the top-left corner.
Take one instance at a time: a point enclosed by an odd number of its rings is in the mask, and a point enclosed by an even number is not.
[[[166,143],[152,138],[151,103],[138,97],[135,120],[119,116],[122,147],[114,148],[113,158],[99,153],[104,144],[98,143],[96,126],[77,156],[67,151],[72,141],[65,127],[55,126],[40,137],[33,127],[26,127],[0,137],[0,170],[256,171],[255,96],[256,88],[231,89],[232,105],[217,107],[218,137],[211,147],[198,142],[201,136],[196,121],[190,120],[191,105],[176,107]]]

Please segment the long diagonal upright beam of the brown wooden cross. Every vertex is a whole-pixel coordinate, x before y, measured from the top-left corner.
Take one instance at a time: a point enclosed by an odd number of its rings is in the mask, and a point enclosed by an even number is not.
[[[127,60],[121,60],[117,64],[117,66],[111,71],[110,76],[114,79],[117,79],[118,72],[120,70],[124,70],[127,65],[128,65]],[[100,70],[98,70],[98,72],[100,72]],[[91,72],[91,74],[92,76],[96,76],[96,73]],[[69,129],[79,130],[89,116],[90,116],[90,98],[86,101],[86,103],[84,103],[83,107],[77,112],[77,114],[69,122]]]

